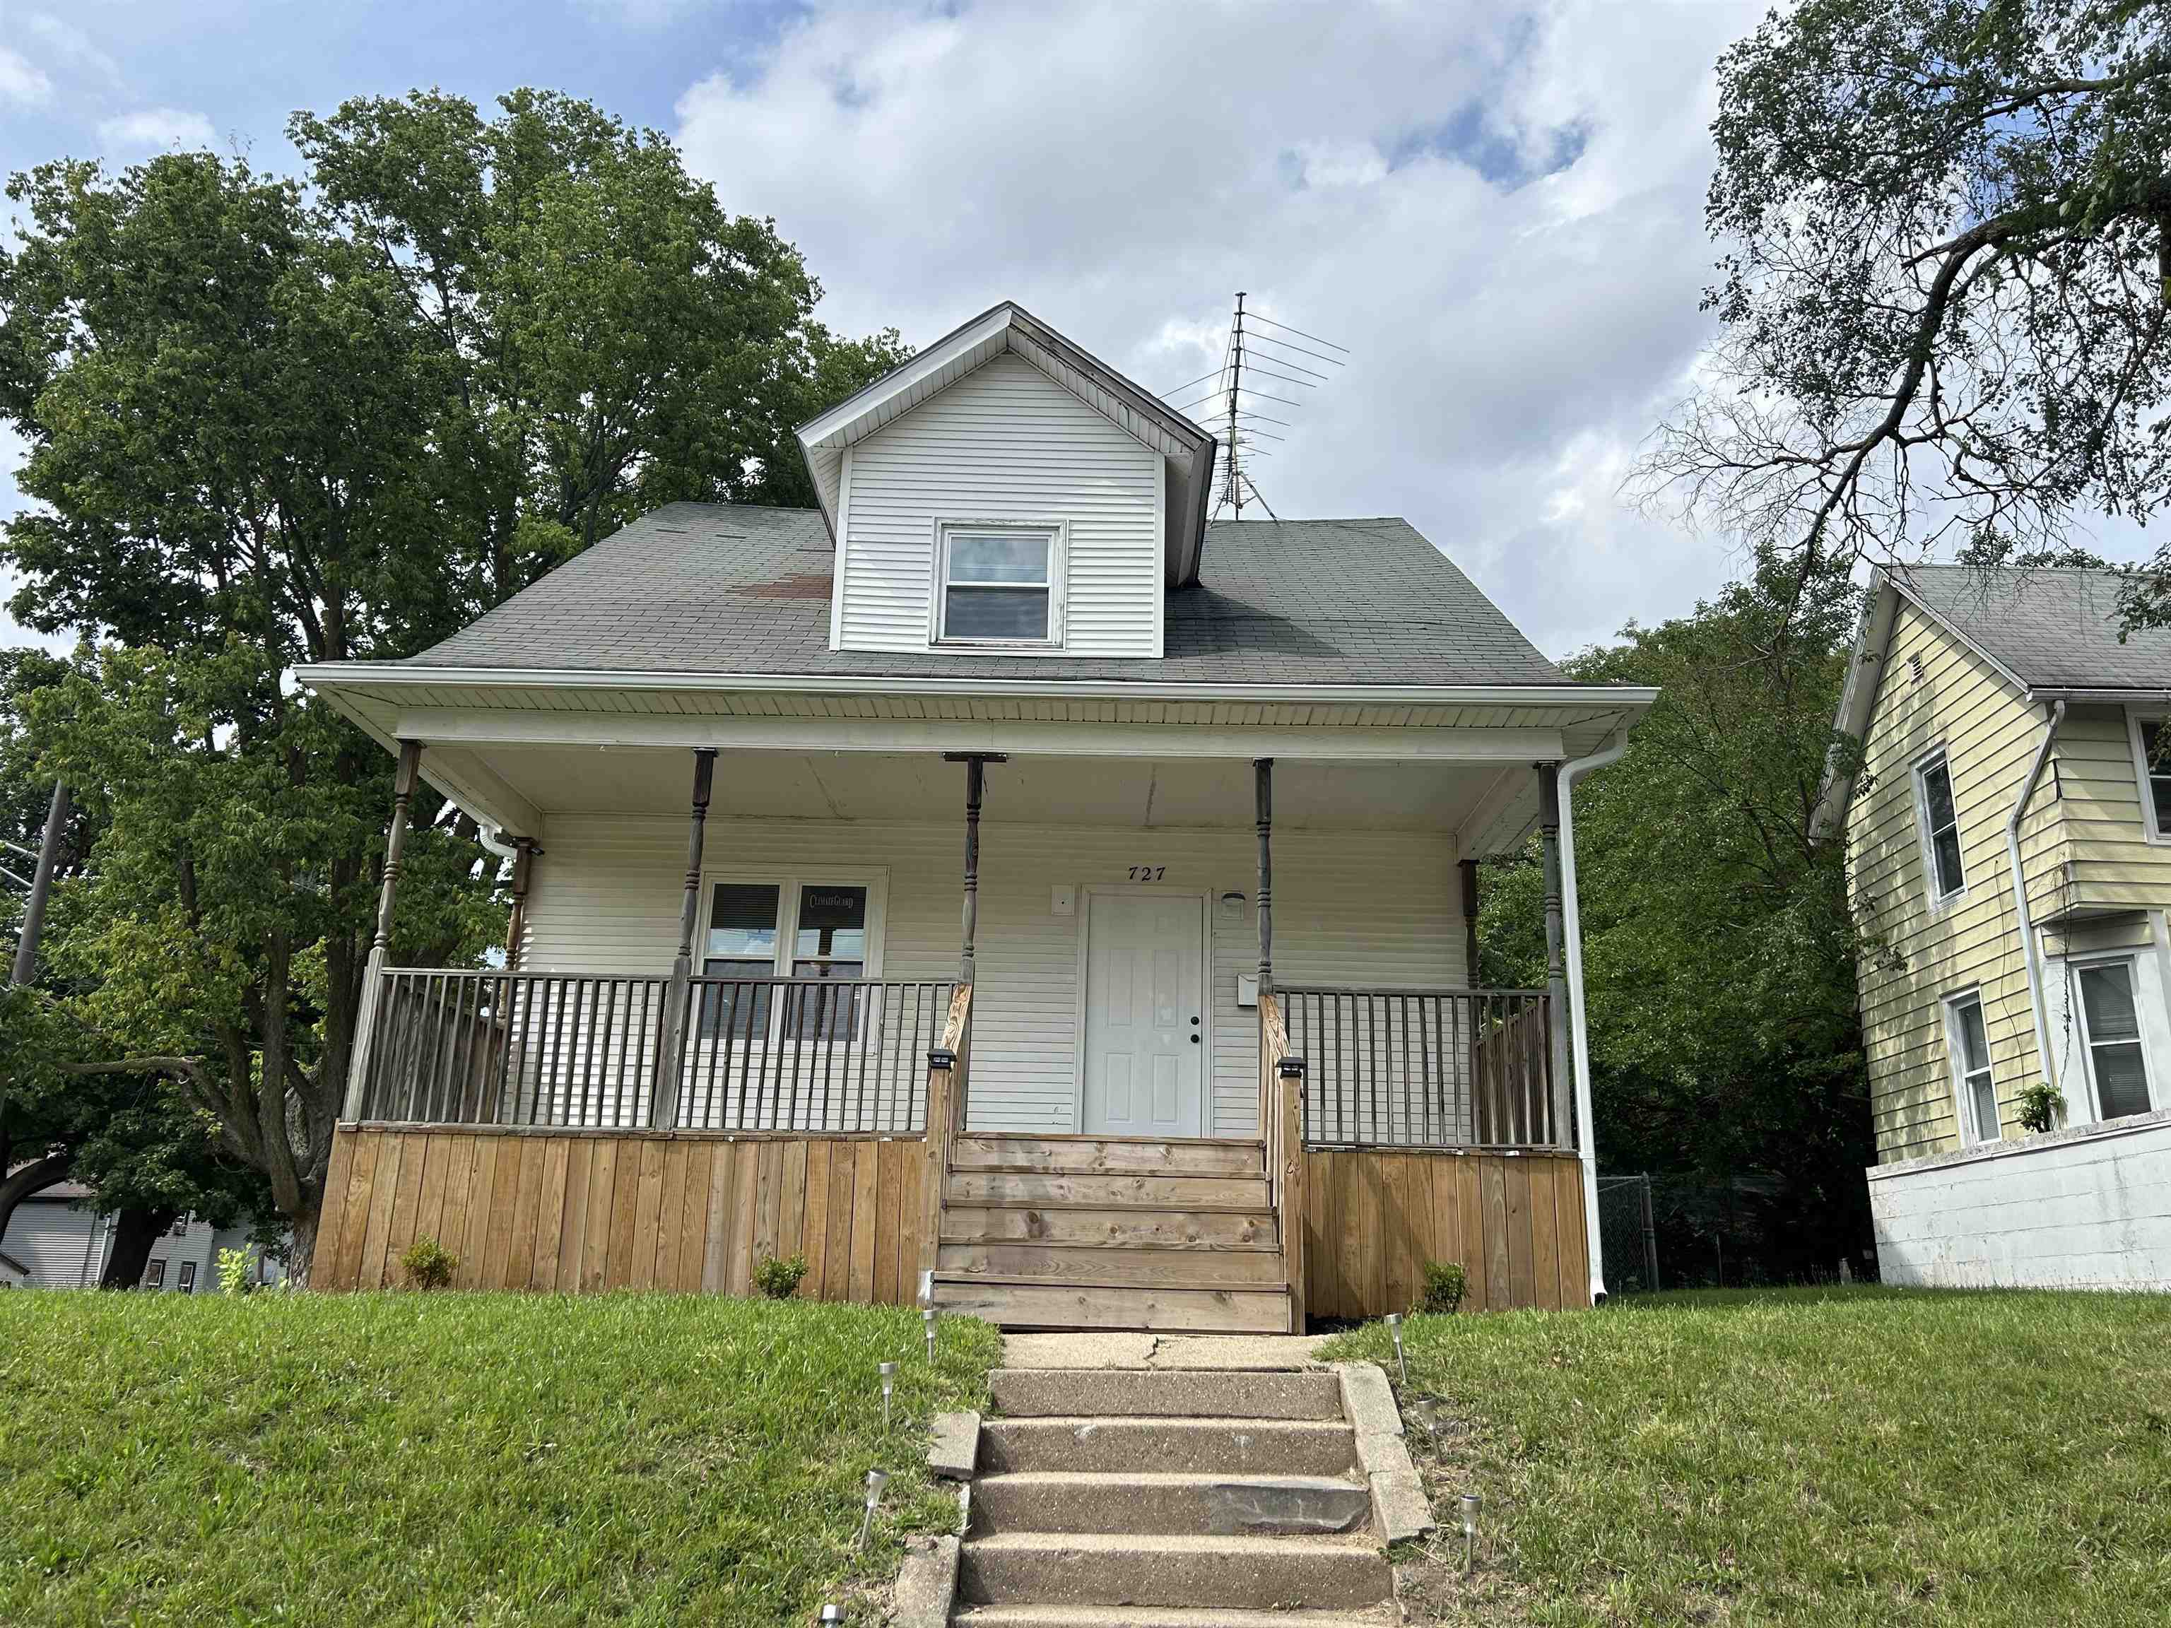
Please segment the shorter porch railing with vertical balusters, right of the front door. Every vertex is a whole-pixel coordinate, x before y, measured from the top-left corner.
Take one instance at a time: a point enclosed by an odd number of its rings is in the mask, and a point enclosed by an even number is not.
[[[1281,985],[1309,1146],[1561,1146],[1544,990]]]

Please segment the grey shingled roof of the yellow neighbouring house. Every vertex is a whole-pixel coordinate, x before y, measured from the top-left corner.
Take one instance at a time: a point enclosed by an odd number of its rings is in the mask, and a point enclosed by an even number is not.
[[[2171,690],[2171,627],[2119,638],[2119,573],[1917,564],[1893,584],[2032,690]]]

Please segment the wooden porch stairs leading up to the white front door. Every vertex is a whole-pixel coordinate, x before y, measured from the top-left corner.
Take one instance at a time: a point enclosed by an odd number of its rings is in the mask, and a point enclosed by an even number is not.
[[[1287,1333],[1266,1146],[957,1137],[936,1305],[1005,1328]]]

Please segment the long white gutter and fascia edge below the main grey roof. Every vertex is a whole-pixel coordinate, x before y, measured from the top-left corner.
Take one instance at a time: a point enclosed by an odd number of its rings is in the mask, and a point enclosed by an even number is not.
[[[1648,684],[1172,684],[1159,679],[879,677],[866,673],[625,673],[601,669],[404,666],[319,662],[295,669],[313,690],[389,692],[475,684],[493,690],[643,690],[710,695],[986,695],[990,699],[1088,701],[1318,701],[1355,705],[1500,705],[1648,712]]]

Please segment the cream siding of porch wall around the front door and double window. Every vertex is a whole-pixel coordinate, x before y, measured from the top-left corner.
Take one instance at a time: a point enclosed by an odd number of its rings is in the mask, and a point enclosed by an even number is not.
[[[1257,970],[1259,844],[1250,829],[1122,831],[981,823],[979,979],[973,992],[970,1129],[1077,1129],[1079,933],[1088,888],[1205,896],[1209,923],[1209,1135],[1255,1135],[1259,1014],[1237,1007]],[[1468,983],[1455,842],[1446,834],[1274,836],[1274,977],[1287,983]],[[818,879],[879,873],[886,979],[957,975],[964,825],[712,818],[703,870]],[[671,970],[686,875],[684,818],[554,816],[528,894],[521,966],[536,972]],[[1075,890],[1075,914],[1051,910]],[[1237,910],[1224,892],[1244,894]]]

